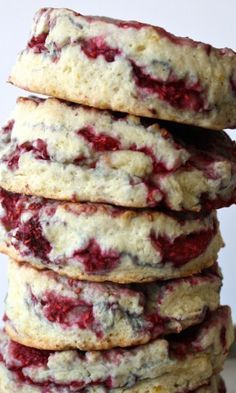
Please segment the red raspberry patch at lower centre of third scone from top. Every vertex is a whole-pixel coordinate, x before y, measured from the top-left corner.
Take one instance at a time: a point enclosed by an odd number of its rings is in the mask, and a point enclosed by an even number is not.
[[[84,248],[73,254],[83,263],[87,273],[106,273],[115,269],[120,261],[120,254],[112,249],[102,250],[95,239],[91,239]]]

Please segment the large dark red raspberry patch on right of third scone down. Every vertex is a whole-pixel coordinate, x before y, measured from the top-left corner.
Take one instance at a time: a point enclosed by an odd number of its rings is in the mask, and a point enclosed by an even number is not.
[[[152,233],[151,241],[156,250],[161,253],[162,263],[170,262],[175,267],[179,267],[203,254],[215,236],[216,231],[217,226],[215,224],[212,229],[179,236],[174,241],[163,236],[156,237]]]

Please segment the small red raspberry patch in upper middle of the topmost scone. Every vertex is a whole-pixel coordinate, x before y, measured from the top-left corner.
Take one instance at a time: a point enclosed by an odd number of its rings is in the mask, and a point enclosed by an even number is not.
[[[112,63],[116,56],[121,54],[119,49],[109,47],[102,37],[83,40],[81,49],[89,58],[96,59],[99,56],[103,56],[108,63]]]

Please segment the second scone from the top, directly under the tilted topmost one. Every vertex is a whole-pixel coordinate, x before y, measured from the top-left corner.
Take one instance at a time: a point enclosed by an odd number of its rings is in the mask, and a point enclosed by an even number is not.
[[[236,201],[236,146],[225,132],[19,98],[0,132],[0,185],[74,202],[210,210]]]

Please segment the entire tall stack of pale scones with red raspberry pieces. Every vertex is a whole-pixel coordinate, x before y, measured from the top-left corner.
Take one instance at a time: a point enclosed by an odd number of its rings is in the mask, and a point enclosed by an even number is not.
[[[226,392],[235,53],[42,9],[10,81],[53,98],[0,135],[1,393]]]

